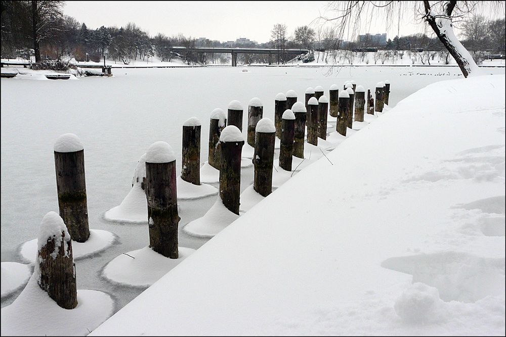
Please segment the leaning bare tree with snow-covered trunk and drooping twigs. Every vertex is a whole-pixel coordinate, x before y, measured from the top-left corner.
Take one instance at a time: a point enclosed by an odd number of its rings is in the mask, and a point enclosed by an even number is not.
[[[373,15],[381,15],[386,22],[398,22],[399,17],[406,13],[409,8],[414,9],[417,17],[427,22],[453,59],[455,59],[462,74],[468,77],[472,72],[478,72],[479,68],[471,54],[455,36],[452,20],[461,20],[464,17],[469,17],[477,6],[483,5],[476,1],[343,1],[329,4],[329,11],[335,14],[333,17],[320,17],[319,19],[333,23],[338,36],[343,36],[352,25],[354,27],[360,25],[360,18],[362,16],[370,18]],[[494,9],[496,12],[503,12],[504,2],[497,2]]]

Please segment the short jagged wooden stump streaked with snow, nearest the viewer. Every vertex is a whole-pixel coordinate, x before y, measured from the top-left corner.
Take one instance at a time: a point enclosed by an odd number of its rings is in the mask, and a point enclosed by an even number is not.
[[[68,229],[68,228],[67,228]],[[64,240],[65,232],[61,237],[50,237],[48,242],[37,253],[40,278],[38,285],[48,293],[58,306],[63,309],[77,307],[77,285],[75,280],[75,263],[72,258],[72,241]],[[55,242],[60,244],[58,254],[53,258]]]

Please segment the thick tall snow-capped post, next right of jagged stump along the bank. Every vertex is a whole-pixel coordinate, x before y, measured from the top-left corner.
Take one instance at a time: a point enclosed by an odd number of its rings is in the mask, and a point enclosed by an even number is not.
[[[146,152],[149,247],[171,259],[179,257],[177,191],[176,156],[170,145],[157,141]]]

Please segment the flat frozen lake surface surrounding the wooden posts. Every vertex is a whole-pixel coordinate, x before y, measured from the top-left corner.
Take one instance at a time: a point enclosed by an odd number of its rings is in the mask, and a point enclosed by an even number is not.
[[[488,68],[504,73],[504,68]],[[293,89],[299,101],[307,87],[355,80],[366,90],[390,80],[390,106],[426,85],[461,77],[457,67],[345,67],[341,71],[313,67],[241,67],[113,69],[112,78],[74,81],[2,79],[2,261],[21,262],[19,245],[36,236],[49,211],[58,212],[53,145],[61,134],[75,133],[85,147],[88,213],[91,229],[117,235],[116,244],[94,258],[76,261],[77,288],[107,292],[116,311],[142,288],[113,285],[99,276],[107,262],[123,252],[149,244],[147,225],[105,221],[104,212],[121,203],[130,191],[139,158],[159,140],[168,142],[181,172],[182,125],[190,117],[202,123],[201,164],[207,160],[209,115],[226,112],[233,100],[244,108],[258,97],[264,117],[274,120],[274,97]],[[442,93],[444,94],[444,93]],[[329,122],[334,118],[329,117]],[[387,136],[387,135],[386,135]],[[252,183],[252,168],[242,175],[241,189]],[[198,249],[207,239],[191,237],[181,228],[201,217],[216,196],[180,201],[179,245]],[[19,294],[19,292],[17,293]],[[2,301],[12,303],[17,294]]]

